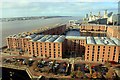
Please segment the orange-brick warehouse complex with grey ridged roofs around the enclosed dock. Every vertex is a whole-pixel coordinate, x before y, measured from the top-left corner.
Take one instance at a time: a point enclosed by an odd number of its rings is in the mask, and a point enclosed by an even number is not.
[[[84,55],[85,61],[119,62],[120,38],[114,33],[116,31],[114,28],[115,26],[82,24],[80,35],[70,36],[61,35],[67,30],[63,25],[48,29],[48,32],[45,30],[29,35],[22,33],[8,36],[7,46],[12,53],[29,57],[64,58],[70,55],[74,57]],[[83,31],[87,35],[82,34]]]

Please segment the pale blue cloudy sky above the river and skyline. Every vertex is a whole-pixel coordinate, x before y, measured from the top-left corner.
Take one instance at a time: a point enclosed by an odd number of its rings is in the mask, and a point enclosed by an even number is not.
[[[84,16],[92,12],[103,14],[104,10],[108,12],[118,12],[117,0],[109,2],[97,1],[69,1],[69,0],[4,0],[0,3],[0,18],[9,17],[27,17],[27,16]]]

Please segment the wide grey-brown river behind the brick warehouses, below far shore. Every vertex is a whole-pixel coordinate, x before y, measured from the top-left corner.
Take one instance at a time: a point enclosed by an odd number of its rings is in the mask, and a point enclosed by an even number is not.
[[[81,20],[80,17],[59,17],[59,18],[48,18],[48,19],[37,19],[37,20],[23,20],[23,21],[10,21],[0,22],[2,28],[2,45],[6,45],[6,37],[21,32],[32,31],[45,26],[54,26],[56,24],[68,23],[69,20]],[[1,37],[1,35],[0,35]]]

